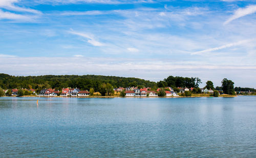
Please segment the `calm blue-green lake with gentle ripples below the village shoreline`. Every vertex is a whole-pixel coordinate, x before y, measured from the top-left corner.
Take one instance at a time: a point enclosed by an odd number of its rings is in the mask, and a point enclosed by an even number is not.
[[[256,97],[2,97],[0,157],[256,157]]]

